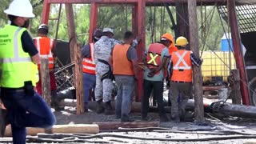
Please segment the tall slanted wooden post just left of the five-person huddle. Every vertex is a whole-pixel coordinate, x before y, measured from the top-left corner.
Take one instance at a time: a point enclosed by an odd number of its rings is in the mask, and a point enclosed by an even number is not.
[[[71,62],[75,62],[74,74],[74,85],[76,87],[77,97],[77,114],[84,113],[84,101],[83,101],[83,87],[82,87],[82,59],[81,50],[78,46],[75,28],[74,28],[74,12],[71,4],[65,5],[66,9],[66,22],[68,26],[68,34],[70,38],[70,58]]]

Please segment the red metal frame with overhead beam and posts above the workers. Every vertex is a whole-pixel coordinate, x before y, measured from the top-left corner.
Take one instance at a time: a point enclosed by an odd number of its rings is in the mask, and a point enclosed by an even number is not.
[[[230,0],[232,1],[232,0]],[[50,14],[50,4],[53,3],[70,3],[70,4],[91,4],[90,10],[90,40],[92,42],[92,34],[94,30],[97,28],[97,19],[98,19],[98,4],[124,4],[128,3],[132,5],[132,30],[134,34],[142,34],[142,42],[138,44],[137,53],[138,53],[138,61],[142,62],[142,56],[144,55],[145,51],[145,40],[146,40],[146,4],[155,4],[155,5],[162,5],[162,2],[167,2],[169,5],[174,5],[175,2],[187,2],[187,0],[45,0],[43,4],[43,11],[42,11],[42,23],[48,24],[49,21],[49,14]],[[226,4],[226,0],[197,0],[198,3],[203,5],[213,5],[213,4]],[[232,10],[233,12],[235,10]],[[239,41],[238,35],[236,30],[238,30],[238,23],[235,20],[235,13],[230,14],[230,26],[231,26],[231,34],[232,38]],[[235,58],[237,61],[238,69],[240,70],[240,76],[243,82],[246,82],[246,73],[244,70],[244,65],[242,61],[242,54],[239,52],[239,45],[238,42],[234,43],[234,53]],[[138,101],[142,99],[142,72],[139,72],[138,77]],[[242,102],[246,105],[249,105],[249,93],[248,89],[246,90],[246,83],[241,84],[242,90]]]

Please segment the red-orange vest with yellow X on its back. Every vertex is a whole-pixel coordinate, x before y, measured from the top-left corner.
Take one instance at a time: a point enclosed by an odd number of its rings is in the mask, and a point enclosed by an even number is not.
[[[146,62],[149,68],[156,68],[160,66],[162,62],[161,54],[164,48],[166,48],[166,46],[164,46],[162,43],[150,44],[146,56]],[[157,74],[160,74],[160,71],[158,71]]]

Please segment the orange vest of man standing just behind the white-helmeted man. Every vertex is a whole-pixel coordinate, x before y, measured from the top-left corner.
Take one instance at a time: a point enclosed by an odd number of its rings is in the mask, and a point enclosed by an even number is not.
[[[34,45],[37,47],[40,58],[48,58],[49,69],[54,68],[54,56],[52,50],[54,47],[54,39],[47,37],[37,37],[34,38]],[[38,64],[40,68],[40,63]]]

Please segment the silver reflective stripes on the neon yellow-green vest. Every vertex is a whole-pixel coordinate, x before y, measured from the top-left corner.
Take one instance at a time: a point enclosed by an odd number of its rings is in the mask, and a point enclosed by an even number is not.
[[[18,33],[22,30],[22,27],[19,27],[14,34],[14,58],[0,58],[2,63],[12,63],[12,62],[31,62],[31,58],[20,57],[18,54]]]

